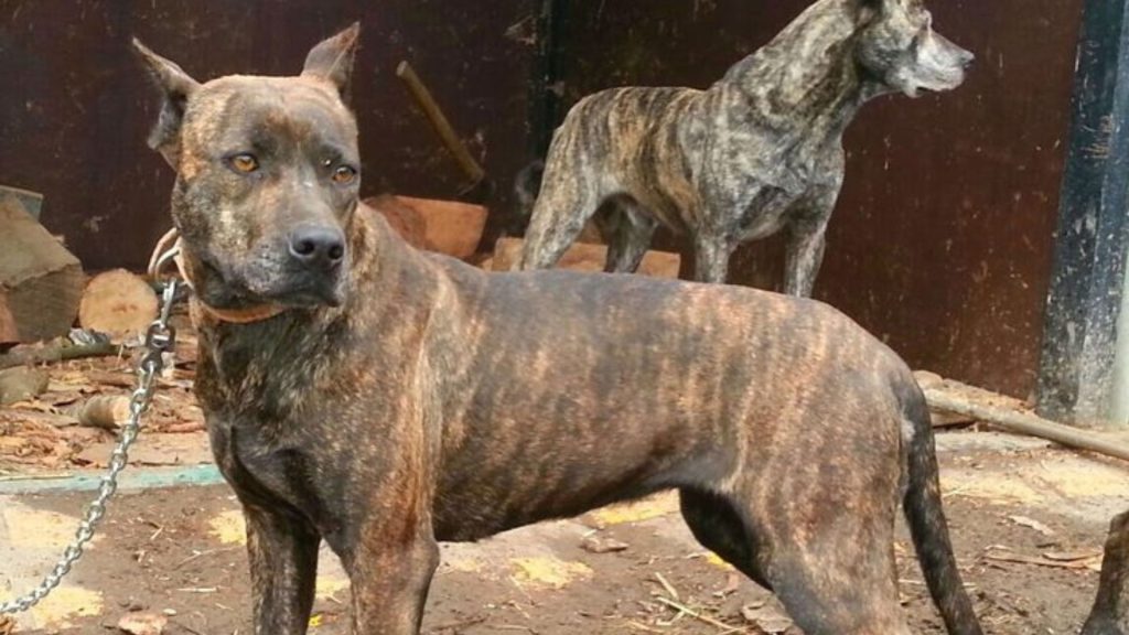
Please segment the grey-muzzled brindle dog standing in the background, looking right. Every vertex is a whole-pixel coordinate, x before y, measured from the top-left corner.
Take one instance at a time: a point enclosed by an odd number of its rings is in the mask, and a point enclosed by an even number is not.
[[[633,272],[662,224],[693,240],[698,280],[725,282],[737,245],[785,228],[785,292],[806,297],[855,113],[955,88],[971,62],[921,0],[820,0],[709,90],[586,97],[553,137],[515,268],[552,267],[595,215],[606,271]]]

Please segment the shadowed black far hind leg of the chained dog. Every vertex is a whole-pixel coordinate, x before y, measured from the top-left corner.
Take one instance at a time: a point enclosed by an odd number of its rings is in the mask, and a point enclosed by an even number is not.
[[[682,517],[702,547],[772,590],[758,562],[755,533],[729,501],[717,494],[683,488],[679,490],[679,502]]]

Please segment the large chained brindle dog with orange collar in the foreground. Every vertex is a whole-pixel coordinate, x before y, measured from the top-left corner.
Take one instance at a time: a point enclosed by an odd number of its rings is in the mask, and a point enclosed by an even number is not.
[[[908,634],[903,502],[951,633],[980,633],[905,365],[829,306],[752,289],[487,273],[358,203],[357,28],[299,77],[164,92],[151,143],[200,331],[196,393],[247,520],[255,633],[306,632],[320,539],[352,633],[418,633],[440,540],[677,488],[694,536],[808,635]]]

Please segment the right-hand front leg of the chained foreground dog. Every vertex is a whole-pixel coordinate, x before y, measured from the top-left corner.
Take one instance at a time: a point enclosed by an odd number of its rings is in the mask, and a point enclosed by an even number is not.
[[[415,514],[390,507],[361,531],[345,558],[352,584],[353,635],[415,635],[423,617],[439,546],[429,527],[412,527]],[[419,517],[419,516],[415,516]]]

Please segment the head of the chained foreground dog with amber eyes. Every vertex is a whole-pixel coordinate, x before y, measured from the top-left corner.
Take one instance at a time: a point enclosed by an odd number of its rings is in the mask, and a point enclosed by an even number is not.
[[[306,58],[297,77],[200,84],[140,42],[164,96],[149,145],[176,169],[172,214],[200,298],[339,305],[357,208],[357,123],[345,106],[358,25]]]

